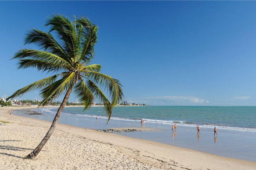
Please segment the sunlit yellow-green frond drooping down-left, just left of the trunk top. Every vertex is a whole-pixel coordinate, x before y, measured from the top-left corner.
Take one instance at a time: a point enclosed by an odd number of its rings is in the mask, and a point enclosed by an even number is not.
[[[40,92],[42,96],[42,102],[39,103],[39,106],[45,106],[50,101],[58,98],[63,94],[64,90],[73,87],[75,83],[75,72],[67,73],[62,79],[50,84],[48,87],[45,87]]]

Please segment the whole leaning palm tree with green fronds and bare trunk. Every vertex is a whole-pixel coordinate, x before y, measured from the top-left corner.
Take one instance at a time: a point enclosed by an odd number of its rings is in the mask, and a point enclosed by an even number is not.
[[[41,50],[21,49],[13,58],[19,60],[19,69],[32,67],[37,68],[38,71],[50,72],[52,75],[17,90],[6,100],[33,90],[40,90],[42,101],[38,107],[44,107],[61,94],[65,96],[44,139],[24,159],[35,158],[44,147],[72,90],[79,101],[83,102],[84,110],[89,108],[95,99],[102,102],[108,121],[113,107],[123,98],[122,85],[118,80],[100,73],[101,65],[89,65],[94,57],[97,26],[88,18],[81,17],[76,20],[74,16],[72,22],[62,15],[53,15],[46,21],[45,26],[51,27],[48,33],[32,29],[25,38],[25,44],[35,44]],[[56,39],[52,32],[56,35]]]

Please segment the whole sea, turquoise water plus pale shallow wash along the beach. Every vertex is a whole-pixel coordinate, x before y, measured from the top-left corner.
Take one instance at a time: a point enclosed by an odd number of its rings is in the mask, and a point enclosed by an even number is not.
[[[52,121],[57,107],[17,110],[14,114]],[[34,114],[42,113],[42,114]],[[97,121],[95,120],[97,117]],[[256,162],[256,106],[117,106],[106,124],[103,107],[65,107],[59,123],[90,129],[141,127],[159,131],[120,135]],[[171,125],[177,132],[171,132]],[[196,125],[201,134],[197,135]],[[213,129],[217,128],[218,136]]]

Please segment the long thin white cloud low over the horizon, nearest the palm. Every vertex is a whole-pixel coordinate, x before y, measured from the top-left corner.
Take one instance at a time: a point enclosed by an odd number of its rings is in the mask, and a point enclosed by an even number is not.
[[[208,100],[199,97],[188,96],[159,96],[128,98],[128,102],[145,103],[147,105],[204,105]]]

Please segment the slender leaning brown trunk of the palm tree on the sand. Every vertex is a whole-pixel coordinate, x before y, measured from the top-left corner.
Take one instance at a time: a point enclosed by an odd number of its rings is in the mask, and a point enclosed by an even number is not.
[[[70,95],[72,91],[72,87],[70,87],[67,91],[67,93],[65,94],[65,97],[59,107],[58,112],[56,113],[56,116],[53,119],[52,125],[50,126],[49,131],[46,133],[44,139],[39,143],[39,145],[27,156],[25,156],[23,159],[34,159],[35,156],[37,156],[37,154],[39,154],[39,152],[41,151],[41,149],[44,147],[45,143],[48,141],[48,139],[50,138],[50,136],[52,135],[55,127],[56,127],[56,123],[59,120],[60,117],[60,113],[62,112],[62,110],[64,109],[64,106],[67,104],[68,101],[68,97]]]

